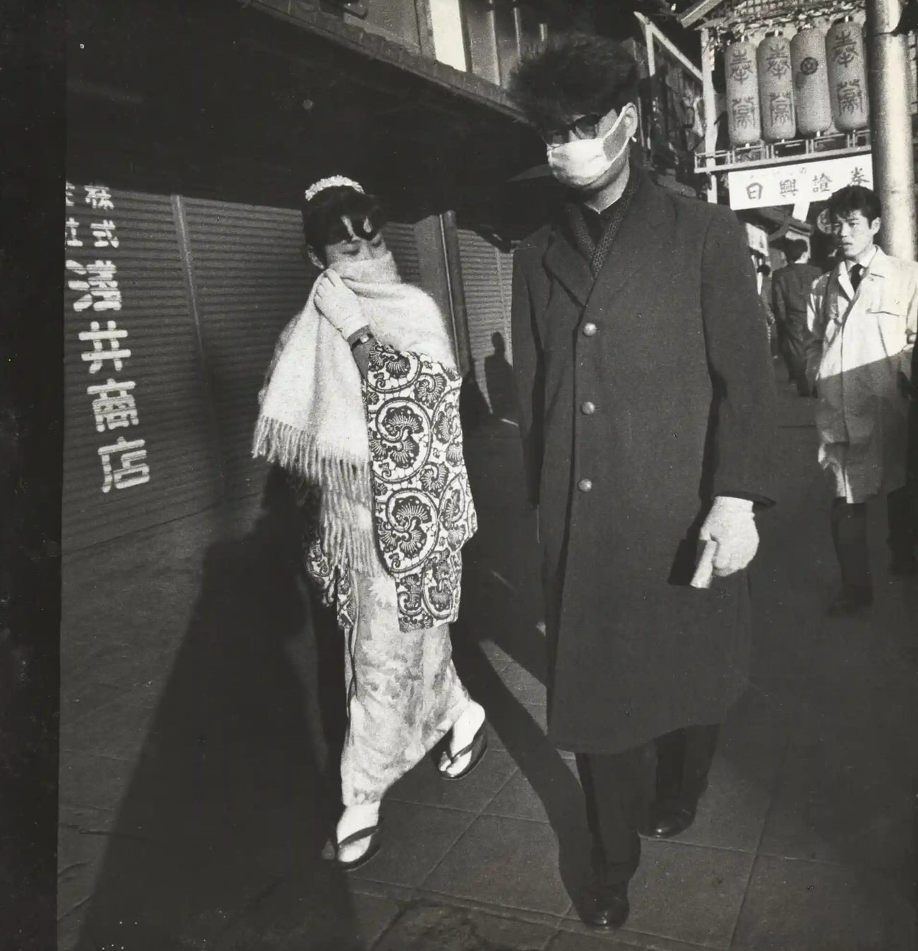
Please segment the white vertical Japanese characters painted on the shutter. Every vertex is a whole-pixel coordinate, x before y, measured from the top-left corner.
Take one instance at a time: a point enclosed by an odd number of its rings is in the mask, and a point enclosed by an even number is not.
[[[82,194],[78,196],[78,192]],[[89,320],[78,331],[86,347],[81,359],[87,365],[87,421],[94,419],[98,433],[105,434],[97,449],[102,476],[101,490],[124,490],[150,480],[146,439],[133,429],[140,425],[135,383],[127,379],[130,358],[127,327],[118,283],[119,239],[113,220],[115,210],[105,185],[66,185],[66,245],[68,309]],[[96,320],[91,318],[96,317]],[[65,327],[71,324],[65,321]],[[91,414],[91,416],[90,416]],[[113,435],[117,430],[126,434]]]

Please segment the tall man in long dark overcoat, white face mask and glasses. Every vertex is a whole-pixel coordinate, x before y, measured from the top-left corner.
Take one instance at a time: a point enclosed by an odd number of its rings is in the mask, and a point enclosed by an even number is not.
[[[753,505],[772,496],[773,377],[746,235],[630,162],[635,85],[618,44],[568,36],[512,87],[566,186],[516,254],[513,353],[549,737],[578,754],[595,844],[578,910],[600,927],[627,918],[638,830],[693,821],[748,675],[743,569]],[[699,538],[707,589],[690,584]]]

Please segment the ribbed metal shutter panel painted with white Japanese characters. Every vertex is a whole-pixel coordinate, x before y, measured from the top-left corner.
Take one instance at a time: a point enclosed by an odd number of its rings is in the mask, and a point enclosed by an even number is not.
[[[68,186],[68,193],[73,204],[66,208],[65,227],[70,263],[65,280],[62,540],[65,551],[72,552],[199,512],[217,501],[219,481],[171,200],[82,184]],[[97,207],[90,203],[91,195]],[[114,223],[117,246],[106,246],[104,233],[94,237],[92,224],[103,222]],[[120,309],[107,309],[119,296]],[[102,333],[108,321],[114,321],[116,332],[127,331],[126,338],[97,341],[103,359],[95,373],[82,355],[92,352],[96,342],[79,337],[91,332],[91,321]],[[104,357],[112,344],[130,351],[121,369]],[[118,394],[91,394],[88,388],[109,379],[134,384],[122,396],[128,410],[133,399],[137,423],[119,425],[126,417],[119,418],[119,407],[109,405],[115,415],[101,417],[99,432],[93,404],[104,412],[101,400]],[[103,492],[99,450],[122,438],[143,440],[142,447],[131,451],[146,452],[146,459],[135,457],[131,466],[126,453],[112,453],[108,491]],[[133,475],[123,471],[125,466]]]

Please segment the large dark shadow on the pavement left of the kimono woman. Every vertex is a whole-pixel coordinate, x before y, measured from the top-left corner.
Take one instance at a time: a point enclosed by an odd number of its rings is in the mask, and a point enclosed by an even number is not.
[[[300,564],[299,514],[276,474],[252,532],[205,555],[82,951],[363,946],[344,879],[320,859],[338,809],[322,776],[336,757],[322,753],[341,732],[342,658],[327,618],[310,623]],[[327,727],[322,690],[337,707]]]

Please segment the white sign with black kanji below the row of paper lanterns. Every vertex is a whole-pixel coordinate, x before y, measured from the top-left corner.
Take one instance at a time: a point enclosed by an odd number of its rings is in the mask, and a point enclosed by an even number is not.
[[[773,204],[820,202],[847,184],[873,187],[873,165],[869,152],[865,152],[840,159],[730,172],[727,184],[730,206],[737,211]]]

